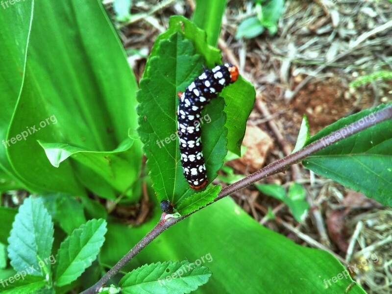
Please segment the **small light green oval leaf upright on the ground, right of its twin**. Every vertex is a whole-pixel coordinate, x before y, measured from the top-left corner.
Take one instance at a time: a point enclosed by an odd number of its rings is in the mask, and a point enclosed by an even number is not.
[[[285,202],[298,222],[305,220],[309,203],[306,201],[306,190],[298,183],[292,183],[289,187],[289,201]]]

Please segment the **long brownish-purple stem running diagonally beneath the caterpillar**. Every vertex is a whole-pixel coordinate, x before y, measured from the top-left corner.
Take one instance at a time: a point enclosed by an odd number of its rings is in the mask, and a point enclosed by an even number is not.
[[[332,144],[335,144],[336,142],[339,142],[343,140],[344,138],[347,138],[349,136],[352,136],[358,132],[361,132],[377,123],[382,123],[384,121],[392,119],[392,106],[386,107],[378,112],[372,113],[374,116],[374,121],[369,121],[366,120],[365,123],[360,124],[359,121],[356,121],[354,123],[351,123],[331,134],[328,136],[325,136],[318,141],[303,147],[299,151],[290,154],[282,159],[279,159],[268,166],[264,167],[263,169],[254,172],[244,179],[235,182],[234,184],[231,184],[221,190],[221,193],[218,194],[218,196],[215,198],[215,200],[209,204],[207,204],[204,207],[207,207],[208,205],[211,205],[212,203],[220,200],[221,198],[228,196],[240,189],[243,189],[254,182],[261,180],[263,178],[266,178],[272,174],[278,173],[278,172],[283,172],[287,170],[291,165],[300,162],[304,158],[308,157],[309,155],[325,148],[328,147]],[[342,133],[345,133],[346,135],[343,137]],[[331,140],[334,138],[334,140]],[[199,208],[203,209],[204,207]],[[196,211],[198,211],[196,210]],[[133,257],[136,256],[144,247],[146,247],[149,243],[151,243],[152,240],[154,240],[156,237],[158,237],[163,231],[165,231],[167,228],[171,227],[173,224],[177,223],[178,221],[182,221],[183,219],[189,217],[190,215],[194,214],[196,211],[191,212],[190,214],[187,214],[185,216],[182,216],[178,219],[170,218],[168,220],[165,220],[164,217],[166,214],[162,214],[160,221],[155,225],[155,227],[138,243],[136,244],[112,269],[110,269],[94,286],[90,287],[89,289],[85,290],[82,292],[82,294],[95,294],[98,293],[100,288],[102,288],[103,285],[105,285],[115,274],[117,274],[129,261],[132,260]]]

